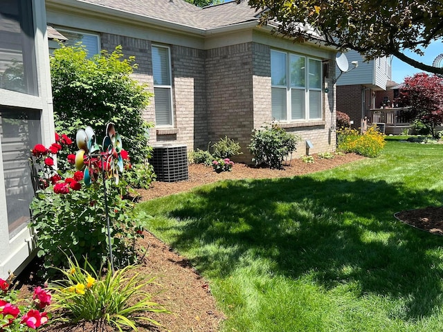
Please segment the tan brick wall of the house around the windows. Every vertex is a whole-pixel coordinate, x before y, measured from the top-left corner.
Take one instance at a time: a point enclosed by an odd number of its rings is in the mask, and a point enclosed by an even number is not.
[[[138,68],[134,78],[147,83],[154,92],[150,41],[118,35],[102,35],[102,49],[122,45],[126,57],[134,55]],[[249,163],[247,146],[251,131],[271,118],[271,48],[244,43],[197,50],[171,46],[174,123],[172,130],[151,130],[150,144],[173,142],[188,149],[206,149],[208,142],[228,136],[240,143],[244,154],[235,160]],[[329,77],[334,67],[329,66]],[[329,86],[332,80],[326,79]],[[323,122],[286,128],[302,138],[297,155],[305,154],[305,140],[311,140],[311,154],[335,150],[335,91],[323,95]],[[144,111],[145,120],[153,122],[154,98]]]

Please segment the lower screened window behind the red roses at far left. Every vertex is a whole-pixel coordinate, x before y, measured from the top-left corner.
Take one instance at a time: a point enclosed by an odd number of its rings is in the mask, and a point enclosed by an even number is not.
[[[42,138],[40,111],[0,107],[1,159],[5,179],[9,237],[29,221],[34,196],[29,151]]]

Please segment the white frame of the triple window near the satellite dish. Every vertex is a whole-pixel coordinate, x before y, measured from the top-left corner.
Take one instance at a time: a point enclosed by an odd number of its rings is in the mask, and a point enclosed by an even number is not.
[[[271,50],[271,57],[273,53],[282,53],[286,55],[286,85],[278,85],[278,84],[272,84],[271,82],[271,89],[273,88],[286,88],[286,118],[282,120],[275,119],[278,122],[307,122],[307,121],[314,121],[314,120],[323,120],[323,66],[321,65],[321,59],[317,59],[314,57],[309,57],[307,55],[302,55],[298,53],[292,53],[284,50]],[[302,57],[305,59],[305,85],[304,86],[298,86],[298,85],[291,85],[291,55],[296,55],[297,57]],[[309,86],[309,60],[314,60],[316,62],[320,62],[320,87],[319,88],[313,88]],[[272,68],[271,68],[271,76],[272,76]],[[291,103],[291,97],[292,97],[292,90],[303,90],[305,91],[305,104],[304,104],[304,117],[300,119],[293,119],[292,118],[292,103]],[[314,117],[311,116],[311,110],[310,110],[310,102],[309,102],[309,95],[310,91],[320,91],[320,117]],[[271,93],[272,95],[272,93]],[[272,98],[272,97],[271,97]],[[273,112],[273,110],[271,110]],[[272,116],[274,117],[274,114],[272,113]]]

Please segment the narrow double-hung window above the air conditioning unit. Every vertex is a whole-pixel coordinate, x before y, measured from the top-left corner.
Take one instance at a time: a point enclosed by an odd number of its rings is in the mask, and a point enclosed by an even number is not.
[[[152,46],[152,75],[156,126],[172,126],[172,77],[170,49]]]

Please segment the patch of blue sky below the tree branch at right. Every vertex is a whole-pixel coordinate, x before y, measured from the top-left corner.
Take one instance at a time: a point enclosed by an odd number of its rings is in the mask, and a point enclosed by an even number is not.
[[[420,57],[419,55],[412,53],[412,52],[406,52],[405,54],[413,57],[413,59],[424,62],[425,64],[428,64],[429,66],[432,66],[432,63],[434,62],[434,59],[443,53],[443,41],[433,42],[431,45],[428,46],[424,50],[424,55]],[[415,68],[413,66],[410,66],[401,60],[394,57],[392,59],[392,81],[395,81],[397,83],[404,82],[404,77],[406,76],[413,76],[416,73],[422,73],[423,71],[421,69]]]

